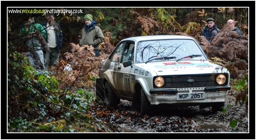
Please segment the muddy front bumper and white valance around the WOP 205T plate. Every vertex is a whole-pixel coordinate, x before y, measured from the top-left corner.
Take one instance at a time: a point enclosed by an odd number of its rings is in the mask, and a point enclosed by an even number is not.
[[[200,87],[200,88],[178,88],[178,89],[152,89],[148,96],[151,105],[159,104],[186,104],[198,105],[200,103],[225,102],[225,97],[230,90],[230,86],[225,87]],[[205,99],[177,100],[177,93],[205,93]]]

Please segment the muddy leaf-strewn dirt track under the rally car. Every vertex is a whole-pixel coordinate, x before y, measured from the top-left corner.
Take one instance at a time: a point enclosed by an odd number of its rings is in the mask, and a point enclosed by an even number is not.
[[[226,96],[226,112],[211,112],[211,107],[154,107],[151,116],[141,115],[132,108],[132,102],[121,100],[115,108],[94,103],[90,114],[99,123],[111,126],[103,132],[248,132],[248,112],[245,106],[235,105],[236,93]],[[229,106],[229,107],[227,107]],[[236,120],[236,127],[230,122]]]

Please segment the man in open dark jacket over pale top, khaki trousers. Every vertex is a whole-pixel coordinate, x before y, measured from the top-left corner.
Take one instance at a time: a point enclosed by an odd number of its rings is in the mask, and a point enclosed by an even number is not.
[[[46,19],[47,22],[42,25],[47,32],[47,45],[50,49],[49,51],[44,52],[45,69],[48,70],[52,65],[57,65],[57,63],[59,63],[63,35],[59,24],[54,21],[54,14],[48,14]]]

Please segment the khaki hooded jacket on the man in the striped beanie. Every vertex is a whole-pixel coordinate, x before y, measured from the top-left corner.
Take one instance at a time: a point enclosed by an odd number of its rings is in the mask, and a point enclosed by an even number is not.
[[[82,38],[79,41],[79,45],[92,45],[95,50],[99,50],[99,44],[104,40],[104,35],[99,26],[93,20],[91,25],[85,25],[81,31]]]

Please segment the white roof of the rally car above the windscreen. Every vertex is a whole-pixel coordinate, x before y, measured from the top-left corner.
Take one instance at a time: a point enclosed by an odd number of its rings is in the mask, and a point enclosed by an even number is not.
[[[122,41],[132,40],[132,41],[138,42],[138,41],[144,41],[144,40],[158,40],[158,39],[193,39],[193,38],[189,36],[184,36],[184,35],[147,35],[147,36],[129,37],[129,38],[123,39]]]

